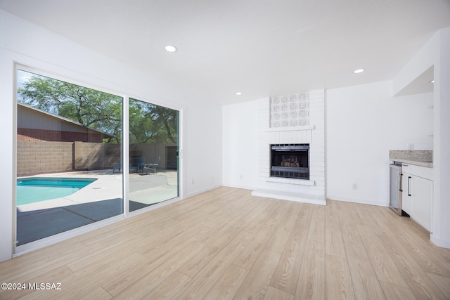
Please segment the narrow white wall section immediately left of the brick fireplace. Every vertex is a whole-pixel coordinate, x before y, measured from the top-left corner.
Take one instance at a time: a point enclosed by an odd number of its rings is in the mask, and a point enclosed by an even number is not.
[[[254,190],[258,183],[258,101],[222,107],[222,184]]]

